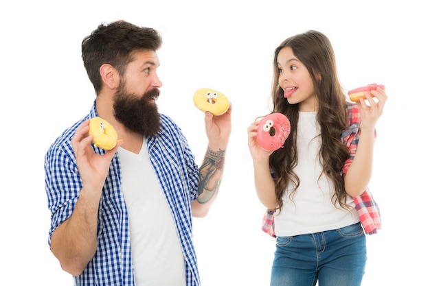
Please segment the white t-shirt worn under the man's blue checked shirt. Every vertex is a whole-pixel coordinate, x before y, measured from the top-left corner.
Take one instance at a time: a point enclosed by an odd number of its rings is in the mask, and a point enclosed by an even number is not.
[[[139,154],[118,149],[137,286],[185,286],[185,263],[174,219],[150,164],[146,140]]]

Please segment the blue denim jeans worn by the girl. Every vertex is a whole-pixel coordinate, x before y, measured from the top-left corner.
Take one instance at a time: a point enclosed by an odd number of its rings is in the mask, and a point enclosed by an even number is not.
[[[366,263],[360,223],[337,230],[277,237],[271,286],[359,286]]]

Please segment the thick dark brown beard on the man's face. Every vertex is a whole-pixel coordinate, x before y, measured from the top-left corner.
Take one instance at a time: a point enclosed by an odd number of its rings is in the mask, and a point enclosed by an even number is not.
[[[154,88],[138,97],[133,93],[127,93],[122,82],[113,98],[115,118],[133,132],[155,136],[160,129],[160,116],[157,105],[150,100],[157,99],[159,93],[159,89]]]

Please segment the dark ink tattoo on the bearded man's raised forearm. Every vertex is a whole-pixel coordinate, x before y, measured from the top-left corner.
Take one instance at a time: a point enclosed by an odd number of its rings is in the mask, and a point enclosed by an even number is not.
[[[220,186],[223,174],[225,150],[212,151],[207,149],[205,159],[200,167],[199,195],[197,201],[208,202]]]

